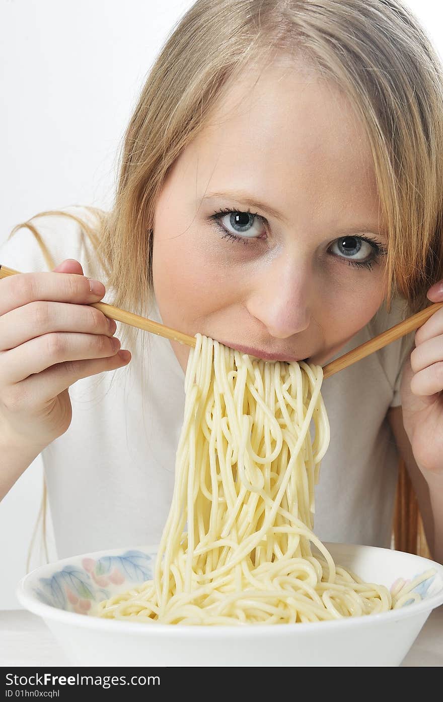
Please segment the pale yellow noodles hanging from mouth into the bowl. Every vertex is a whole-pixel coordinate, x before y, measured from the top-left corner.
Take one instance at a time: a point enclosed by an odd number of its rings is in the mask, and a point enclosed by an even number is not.
[[[269,363],[196,335],[154,580],[100,602],[97,616],[295,623],[416,599],[407,597],[411,587],[391,595],[336,567],[313,534],[314,486],[329,444],[321,385],[321,366]]]

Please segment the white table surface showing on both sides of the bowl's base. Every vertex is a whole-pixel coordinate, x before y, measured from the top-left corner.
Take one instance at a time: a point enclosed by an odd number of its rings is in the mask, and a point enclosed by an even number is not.
[[[71,666],[43,619],[23,609],[0,611],[0,665]],[[402,666],[443,666],[443,605],[431,612]]]

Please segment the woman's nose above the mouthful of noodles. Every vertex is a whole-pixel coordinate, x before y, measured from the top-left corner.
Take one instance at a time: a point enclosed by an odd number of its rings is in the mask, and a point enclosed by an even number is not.
[[[247,310],[271,336],[285,339],[308,328],[313,272],[306,261],[274,260],[254,278]]]

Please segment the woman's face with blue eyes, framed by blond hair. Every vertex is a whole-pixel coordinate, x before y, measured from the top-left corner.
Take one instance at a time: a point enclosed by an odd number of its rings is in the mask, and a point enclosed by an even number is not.
[[[158,309],[191,336],[323,365],[386,296],[377,245],[371,153],[346,98],[294,65],[251,69],[165,179]],[[172,347],[186,369],[189,347]]]

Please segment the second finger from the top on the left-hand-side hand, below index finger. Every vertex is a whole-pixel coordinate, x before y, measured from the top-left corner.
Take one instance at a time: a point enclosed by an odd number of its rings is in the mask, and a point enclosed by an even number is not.
[[[117,325],[90,305],[69,303],[29,303],[0,317],[0,351],[55,331],[83,332],[112,336]]]

